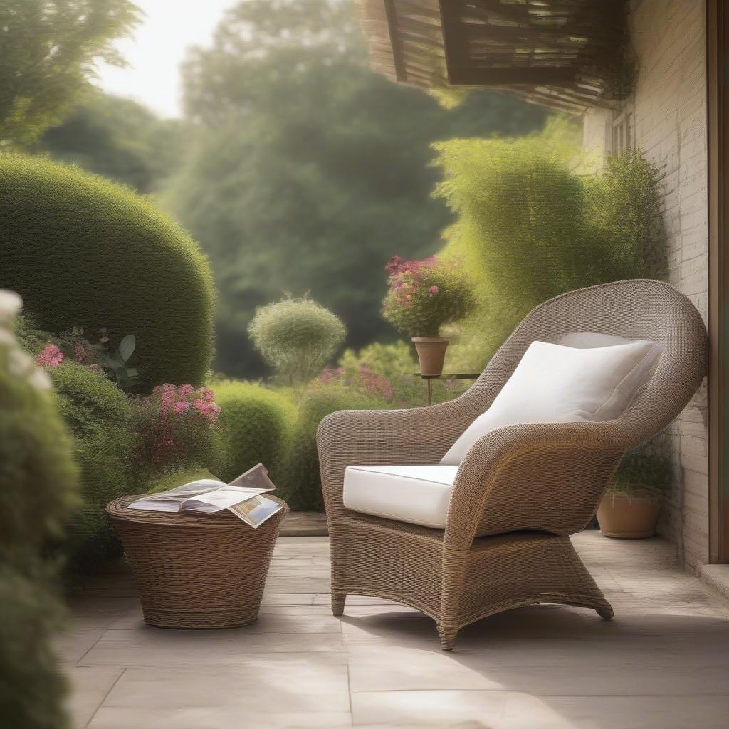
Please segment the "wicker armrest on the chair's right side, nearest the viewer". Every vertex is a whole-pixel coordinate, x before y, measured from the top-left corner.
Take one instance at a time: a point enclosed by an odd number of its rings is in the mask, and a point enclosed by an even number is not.
[[[633,442],[619,421],[513,425],[472,446],[453,483],[445,544],[537,530],[574,534],[595,515]]]

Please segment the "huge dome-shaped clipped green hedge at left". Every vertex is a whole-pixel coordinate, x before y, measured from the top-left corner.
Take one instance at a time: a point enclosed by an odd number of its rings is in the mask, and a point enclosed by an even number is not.
[[[0,156],[0,287],[47,332],[136,336],[139,387],[198,384],[211,362],[212,274],[187,233],[128,188],[39,157]]]

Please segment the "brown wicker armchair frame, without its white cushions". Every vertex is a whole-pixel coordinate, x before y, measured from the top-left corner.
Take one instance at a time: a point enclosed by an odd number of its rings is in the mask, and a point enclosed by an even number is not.
[[[647,388],[606,422],[514,425],[471,448],[453,483],[445,530],[368,516],[343,504],[348,465],[437,464],[494,397],[533,340],[568,332],[652,340],[664,348]],[[452,402],[411,410],[346,410],[321,422],[321,483],[332,551],[332,612],[348,594],[414,607],[451,650],[460,628],[513,607],[612,607],[569,534],[593,518],[625,451],[676,418],[700,386],[706,330],[693,304],[659,281],[618,281],[534,309],[475,384]]]

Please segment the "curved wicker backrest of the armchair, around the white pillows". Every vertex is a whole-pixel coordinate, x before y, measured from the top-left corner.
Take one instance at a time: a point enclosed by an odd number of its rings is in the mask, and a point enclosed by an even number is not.
[[[537,306],[464,398],[483,412],[534,340],[555,342],[569,332],[599,332],[663,346],[655,375],[619,418],[634,434],[634,445],[671,424],[706,373],[706,327],[693,303],[669,284],[634,279],[579,289]]]

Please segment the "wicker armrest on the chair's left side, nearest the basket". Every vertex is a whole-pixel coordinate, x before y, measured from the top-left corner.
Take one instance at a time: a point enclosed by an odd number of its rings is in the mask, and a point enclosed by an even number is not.
[[[410,410],[340,410],[316,430],[327,518],[344,512],[347,466],[435,464],[477,413],[464,399]]]

